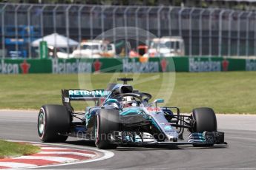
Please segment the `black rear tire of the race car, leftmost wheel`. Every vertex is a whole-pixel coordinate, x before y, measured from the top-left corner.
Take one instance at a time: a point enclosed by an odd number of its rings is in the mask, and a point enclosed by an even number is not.
[[[42,142],[65,142],[68,136],[59,133],[68,132],[70,115],[62,105],[45,105],[39,111],[37,129]]]

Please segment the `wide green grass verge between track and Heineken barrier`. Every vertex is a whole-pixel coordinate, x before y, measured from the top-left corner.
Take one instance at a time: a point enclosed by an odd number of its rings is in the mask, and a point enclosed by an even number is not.
[[[170,73],[164,73],[165,75]],[[151,78],[161,74],[135,75]],[[113,74],[87,74],[85,84],[92,82],[93,89],[104,89]],[[115,75],[123,77],[124,74]],[[131,75],[126,75],[130,77]],[[217,113],[256,113],[256,72],[178,72],[171,99],[166,106],[179,106],[181,112],[195,107],[209,106]],[[168,86],[160,86],[162,76],[154,81],[134,85],[136,89],[152,95],[168,95]],[[39,109],[46,103],[62,103],[61,89],[78,89],[78,76],[73,75],[0,75],[1,109]],[[159,92],[159,89],[160,92]],[[76,103],[77,109],[85,104]]]

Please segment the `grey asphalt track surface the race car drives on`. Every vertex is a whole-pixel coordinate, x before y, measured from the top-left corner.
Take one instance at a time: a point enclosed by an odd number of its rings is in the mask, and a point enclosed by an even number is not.
[[[0,138],[39,141],[37,115],[34,111],[1,110]],[[107,160],[52,169],[256,169],[256,115],[217,115],[217,121],[228,146],[118,147],[110,150],[114,157]],[[70,147],[93,146],[76,138],[67,143]]]

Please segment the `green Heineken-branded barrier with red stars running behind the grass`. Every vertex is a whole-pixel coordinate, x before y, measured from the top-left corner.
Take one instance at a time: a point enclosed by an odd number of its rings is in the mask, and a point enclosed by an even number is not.
[[[174,67],[175,66],[175,67]],[[256,70],[256,60],[220,57],[1,59],[0,73],[218,72]]]

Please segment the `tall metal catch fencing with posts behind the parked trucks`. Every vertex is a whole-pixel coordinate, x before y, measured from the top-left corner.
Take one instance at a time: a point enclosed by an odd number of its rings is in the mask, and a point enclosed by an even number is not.
[[[185,54],[189,56],[256,55],[256,13],[253,11],[171,6],[6,3],[0,4],[0,10],[2,58],[10,58],[10,50],[24,52],[23,57],[38,57],[30,45],[31,41],[51,33],[81,42],[114,27],[137,27],[157,37],[182,36]],[[104,38],[104,34],[102,36]],[[125,38],[125,41],[129,41],[129,38]],[[131,41],[133,48],[139,44],[139,39]]]

